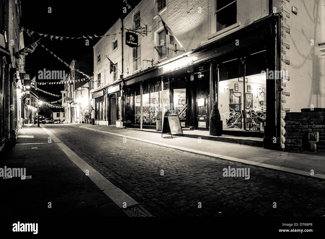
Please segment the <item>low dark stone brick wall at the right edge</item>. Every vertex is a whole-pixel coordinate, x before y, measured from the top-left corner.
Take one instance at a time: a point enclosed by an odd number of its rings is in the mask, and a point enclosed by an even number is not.
[[[305,150],[308,133],[319,132],[317,151],[325,152],[325,112],[287,112],[284,121],[286,150]]]

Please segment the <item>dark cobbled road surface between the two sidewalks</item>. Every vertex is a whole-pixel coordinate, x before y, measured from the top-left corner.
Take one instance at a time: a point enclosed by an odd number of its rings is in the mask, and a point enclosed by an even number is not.
[[[325,215],[325,181],[79,126],[82,124],[44,127],[154,216]],[[249,167],[250,179],[223,177],[223,168],[228,166]]]

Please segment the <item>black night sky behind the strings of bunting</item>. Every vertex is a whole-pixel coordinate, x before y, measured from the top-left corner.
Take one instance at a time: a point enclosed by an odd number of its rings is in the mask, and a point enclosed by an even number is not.
[[[123,0],[117,1],[44,1],[33,0],[21,1],[22,18],[20,25],[34,32],[66,36],[101,36],[123,14],[123,7],[126,7]],[[140,0],[127,0],[133,8]],[[52,8],[52,13],[48,13],[48,7]],[[127,12],[130,12],[128,9]],[[67,62],[69,65],[72,60],[83,60],[89,62],[93,68],[93,46],[100,38],[89,39],[89,46],[85,45],[85,39],[63,39],[63,41],[50,40],[49,37],[39,37],[33,35],[34,39],[24,32],[24,44],[30,45],[35,40],[42,38],[40,43],[46,46],[54,54]],[[25,70],[32,77],[38,77],[38,71],[45,68],[46,70],[61,70],[69,72],[69,68],[62,62],[54,58],[42,46],[38,45],[32,54],[25,57]],[[51,82],[51,80],[37,80],[38,82]],[[53,80],[59,81],[59,80]],[[53,94],[61,94],[64,85],[38,85],[38,88]],[[40,100],[54,101],[60,98],[50,96],[38,91]]]

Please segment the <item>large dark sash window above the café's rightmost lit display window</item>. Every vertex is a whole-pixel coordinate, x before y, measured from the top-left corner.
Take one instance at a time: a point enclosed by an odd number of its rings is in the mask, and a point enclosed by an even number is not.
[[[237,1],[215,0],[216,31],[220,31],[237,22]]]

